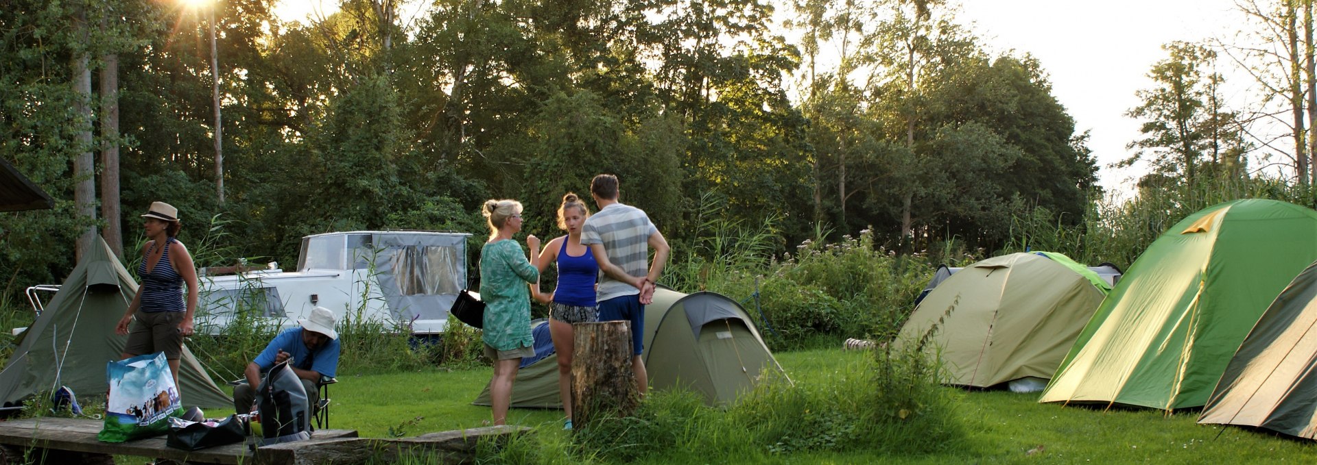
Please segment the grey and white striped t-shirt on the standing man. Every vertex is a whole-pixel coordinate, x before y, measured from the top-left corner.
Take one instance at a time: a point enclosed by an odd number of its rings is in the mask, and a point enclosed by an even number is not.
[[[608,261],[620,267],[627,275],[639,277],[649,273],[649,235],[655,232],[658,232],[658,229],[643,210],[631,205],[611,204],[586,218],[581,226],[581,243],[603,244],[608,251]],[[599,272],[597,301],[639,293],[640,289]]]

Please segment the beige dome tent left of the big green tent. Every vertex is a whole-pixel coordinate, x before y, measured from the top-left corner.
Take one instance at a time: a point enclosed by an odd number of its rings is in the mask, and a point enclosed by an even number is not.
[[[926,347],[936,349],[950,385],[1046,380],[1102,302],[1105,292],[1094,282],[1106,284],[1060,254],[982,260],[928,293],[897,342],[927,335]]]

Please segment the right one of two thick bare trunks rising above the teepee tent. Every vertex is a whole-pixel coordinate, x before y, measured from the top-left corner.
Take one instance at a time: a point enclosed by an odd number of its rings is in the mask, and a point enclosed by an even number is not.
[[[108,14],[105,14],[108,16]],[[101,17],[101,30],[105,28]],[[101,238],[115,256],[124,257],[124,229],[119,214],[119,54],[101,56],[100,68],[100,217],[105,218]]]

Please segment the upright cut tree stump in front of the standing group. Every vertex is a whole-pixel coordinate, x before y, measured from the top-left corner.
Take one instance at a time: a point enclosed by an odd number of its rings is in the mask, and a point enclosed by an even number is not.
[[[607,416],[628,416],[640,403],[631,370],[631,322],[573,324],[572,423],[582,427]]]

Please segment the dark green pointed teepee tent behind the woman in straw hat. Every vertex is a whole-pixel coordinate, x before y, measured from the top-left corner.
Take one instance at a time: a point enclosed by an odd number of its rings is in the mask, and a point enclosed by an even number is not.
[[[0,402],[16,406],[59,386],[79,395],[104,395],[109,389],[105,363],[119,360],[128,342],[115,334],[115,324],[136,293],[137,281],[97,236],[9,356],[0,372]],[[179,372],[184,406],[233,407],[187,345]]]

